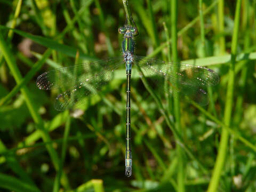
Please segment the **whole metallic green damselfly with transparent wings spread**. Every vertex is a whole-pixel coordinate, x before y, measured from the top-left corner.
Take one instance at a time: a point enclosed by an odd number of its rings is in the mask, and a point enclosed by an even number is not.
[[[126,68],[126,153],[125,175],[132,175],[131,150],[131,74],[135,66],[140,74],[156,87],[164,87],[164,92],[179,92],[201,105],[207,105],[207,86],[219,83],[219,76],[212,69],[182,63],[165,62],[158,59],[134,55],[134,39],[137,27],[125,25],[118,29],[124,36],[123,55],[111,59],[85,62],[71,67],[63,67],[39,75],[36,84],[41,90],[65,90],[55,99],[54,107],[65,110],[77,103],[81,104],[86,96],[97,94],[111,79],[119,67]],[[174,68],[179,71],[173,73]],[[124,74],[125,75],[125,74]],[[164,86],[164,82],[167,86]]]

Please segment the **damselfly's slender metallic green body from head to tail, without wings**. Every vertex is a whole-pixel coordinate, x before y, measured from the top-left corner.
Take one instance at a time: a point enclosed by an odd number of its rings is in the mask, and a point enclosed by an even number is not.
[[[125,175],[132,175],[132,148],[131,148],[131,74],[134,53],[133,36],[138,34],[137,28],[124,26],[118,29],[119,33],[124,34],[122,50],[126,65],[126,150],[125,150]]]

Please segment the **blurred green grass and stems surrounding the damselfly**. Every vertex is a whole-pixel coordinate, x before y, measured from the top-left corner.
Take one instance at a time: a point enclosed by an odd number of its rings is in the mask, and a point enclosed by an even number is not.
[[[154,91],[161,107],[132,78],[126,178],[125,70],[78,110],[55,110],[58,92],[35,84],[75,60],[121,55],[123,2],[0,0],[1,191],[256,191],[256,0],[173,1],[129,1],[135,54],[168,60],[178,36],[178,59],[213,69],[220,83],[208,106],[180,101],[178,139],[168,96]]]

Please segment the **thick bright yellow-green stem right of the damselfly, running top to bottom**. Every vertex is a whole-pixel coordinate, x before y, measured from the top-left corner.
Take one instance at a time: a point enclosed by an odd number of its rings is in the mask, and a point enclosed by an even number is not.
[[[233,106],[235,62],[236,62],[241,2],[242,2],[241,0],[237,0],[237,3],[236,3],[235,25],[233,30],[232,42],[231,42],[231,62],[229,65],[229,81],[228,81],[228,87],[227,87],[226,106],[225,106],[224,119],[223,119],[225,125],[227,126],[230,125],[231,112],[232,112],[232,106]],[[229,132],[226,129],[222,129],[218,156],[214,165],[214,170],[213,170],[212,178],[209,184],[209,188],[207,190],[208,192],[216,191],[219,186],[220,175],[223,170],[223,165],[225,163],[226,154],[227,154],[228,138],[229,138]]]

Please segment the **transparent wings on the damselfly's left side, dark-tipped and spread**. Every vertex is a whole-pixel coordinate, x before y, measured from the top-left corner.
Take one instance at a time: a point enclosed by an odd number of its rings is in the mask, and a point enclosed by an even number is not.
[[[63,67],[39,75],[36,84],[42,90],[59,89],[62,92],[54,103],[54,108],[62,111],[87,95],[97,94],[113,78],[114,70],[123,63],[121,56]]]

